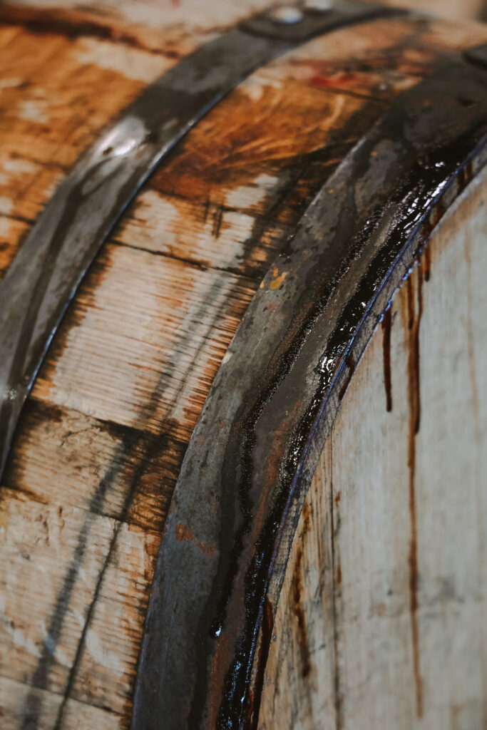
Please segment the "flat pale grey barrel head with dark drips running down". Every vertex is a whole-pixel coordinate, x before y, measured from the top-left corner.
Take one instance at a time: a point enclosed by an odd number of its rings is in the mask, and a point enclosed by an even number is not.
[[[259,728],[487,722],[487,173],[353,374],[294,539]]]

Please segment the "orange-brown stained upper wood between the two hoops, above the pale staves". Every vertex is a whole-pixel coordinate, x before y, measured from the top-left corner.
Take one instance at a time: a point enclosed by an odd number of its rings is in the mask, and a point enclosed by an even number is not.
[[[267,163],[270,171],[279,169],[290,158],[334,141],[341,117],[333,112],[344,104],[342,96],[333,98],[335,91],[390,103],[430,74],[440,53],[486,39],[487,28],[478,23],[455,26],[414,16],[374,20],[313,39],[239,85],[188,134],[149,187],[222,203],[226,188],[239,177],[247,182],[249,168]],[[307,112],[301,128],[291,115],[297,103]],[[320,104],[326,121],[320,119]]]

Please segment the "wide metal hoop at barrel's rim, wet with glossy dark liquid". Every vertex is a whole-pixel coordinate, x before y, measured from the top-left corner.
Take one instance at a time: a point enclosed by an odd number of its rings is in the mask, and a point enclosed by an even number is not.
[[[353,362],[486,162],[486,135],[486,70],[443,58],[326,180],[266,275],[177,482],[134,730],[257,726],[288,551]]]

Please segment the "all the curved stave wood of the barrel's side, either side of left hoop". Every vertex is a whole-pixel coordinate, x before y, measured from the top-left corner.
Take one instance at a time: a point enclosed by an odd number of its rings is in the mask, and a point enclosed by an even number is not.
[[[101,128],[264,4],[1,5],[3,269]],[[411,18],[315,40],[242,83],[145,186],[54,339],[0,493],[2,728],[128,725],[172,488],[262,274],[394,97],[486,39]]]

